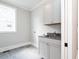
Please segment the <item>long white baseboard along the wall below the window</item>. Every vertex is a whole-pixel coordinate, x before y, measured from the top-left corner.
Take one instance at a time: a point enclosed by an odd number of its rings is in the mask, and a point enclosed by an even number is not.
[[[19,47],[26,46],[26,45],[32,45],[32,44],[31,44],[31,42],[18,43],[18,44],[15,44],[15,45],[11,45],[11,46],[0,48],[0,52],[11,50],[11,49],[15,49],[15,48],[19,48]]]

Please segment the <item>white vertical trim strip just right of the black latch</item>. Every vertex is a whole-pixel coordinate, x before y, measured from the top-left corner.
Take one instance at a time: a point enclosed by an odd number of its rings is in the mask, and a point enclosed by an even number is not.
[[[68,22],[68,26],[67,26],[67,40],[68,40],[68,59],[72,59],[72,2],[73,0],[68,0],[68,7],[67,7],[67,22]]]

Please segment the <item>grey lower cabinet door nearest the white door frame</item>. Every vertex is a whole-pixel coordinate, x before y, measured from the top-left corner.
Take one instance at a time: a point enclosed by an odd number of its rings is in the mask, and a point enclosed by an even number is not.
[[[61,47],[50,46],[50,59],[61,59]]]

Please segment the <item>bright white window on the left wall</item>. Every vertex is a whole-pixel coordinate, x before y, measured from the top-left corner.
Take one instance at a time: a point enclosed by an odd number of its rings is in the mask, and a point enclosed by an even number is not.
[[[0,32],[15,32],[16,9],[0,4]]]

